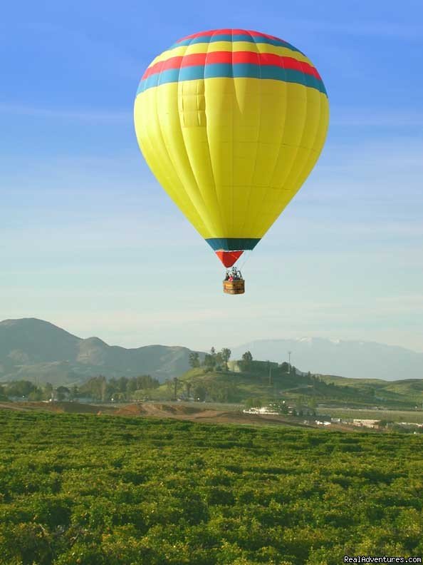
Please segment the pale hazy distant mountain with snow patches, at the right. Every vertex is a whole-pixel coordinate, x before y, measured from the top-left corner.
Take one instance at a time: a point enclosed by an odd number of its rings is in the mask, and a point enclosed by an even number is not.
[[[232,349],[234,359],[250,351],[254,359],[288,361],[301,371],[363,379],[422,379],[423,353],[375,342],[327,340],[260,340]]]

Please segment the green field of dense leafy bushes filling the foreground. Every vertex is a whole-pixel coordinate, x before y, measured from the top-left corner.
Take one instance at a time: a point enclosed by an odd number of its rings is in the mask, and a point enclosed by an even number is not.
[[[1,565],[422,556],[423,437],[0,412]]]

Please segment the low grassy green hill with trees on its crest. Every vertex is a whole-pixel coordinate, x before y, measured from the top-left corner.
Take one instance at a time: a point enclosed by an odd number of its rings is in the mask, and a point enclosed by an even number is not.
[[[303,374],[276,363],[252,361],[236,371],[197,367],[177,381],[167,381],[154,391],[154,399],[192,397],[212,402],[246,402],[247,399],[285,399],[315,406],[389,407],[422,406],[423,380],[386,382]],[[175,389],[176,387],[176,389]],[[176,391],[176,395],[175,395]]]

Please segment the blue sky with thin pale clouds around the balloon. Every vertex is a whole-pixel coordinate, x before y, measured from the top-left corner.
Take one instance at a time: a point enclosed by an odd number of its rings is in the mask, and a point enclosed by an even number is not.
[[[420,0],[23,1],[0,22],[0,319],[127,347],[305,335],[423,351]],[[328,140],[251,254],[247,292],[137,148],[152,58],[207,29],[286,39],[323,76]]]

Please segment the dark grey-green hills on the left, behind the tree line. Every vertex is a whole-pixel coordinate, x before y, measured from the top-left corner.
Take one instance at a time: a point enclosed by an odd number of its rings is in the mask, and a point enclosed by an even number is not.
[[[98,337],[82,339],[36,318],[0,322],[0,382],[36,380],[54,386],[89,377],[135,377],[150,374],[160,381],[189,368],[187,347],[111,346]]]

